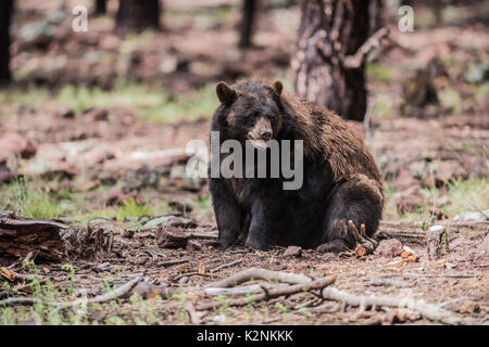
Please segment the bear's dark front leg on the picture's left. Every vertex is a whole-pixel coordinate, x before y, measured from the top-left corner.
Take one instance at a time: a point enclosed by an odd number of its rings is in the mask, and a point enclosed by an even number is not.
[[[212,194],[212,205],[218,229],[218,237],[214,246],[220,249],[226,249],[238,240],[242,210],[224,180],[210,179],[209,190]]]

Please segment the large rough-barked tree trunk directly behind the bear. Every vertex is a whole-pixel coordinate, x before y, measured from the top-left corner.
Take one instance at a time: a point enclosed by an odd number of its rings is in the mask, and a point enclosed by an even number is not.
[[[363,120],[366,112],[365,62],[344,66],[379,26],[378,0],[303,0],[297,51],[292,57],[298,95]]]

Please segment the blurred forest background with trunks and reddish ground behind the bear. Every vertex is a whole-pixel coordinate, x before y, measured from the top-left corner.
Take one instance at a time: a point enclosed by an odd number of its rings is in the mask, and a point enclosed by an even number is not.
[[[103,217],[117,234],[184,214],[215,230],[185,147],[208,141],[215,83],[253,77],[348,119],[385,179],[389,228],[485,221],[488,27],[489,1],[2,0],[0,211]]]

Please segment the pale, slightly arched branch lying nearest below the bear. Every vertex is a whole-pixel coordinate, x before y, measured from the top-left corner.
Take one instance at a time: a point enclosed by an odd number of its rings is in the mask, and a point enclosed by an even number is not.
[[[289,273],[280,271],[271,271],[266,269],[251,268],[244,271],[233,274],[231,277],[224,279],[220,282],[208,284],[206,287],[231,287],[244,283],[249,280],[268,280],[271,282],[284,282],[284,283],[308,283],[311,282],[311,278],[300,273]]]

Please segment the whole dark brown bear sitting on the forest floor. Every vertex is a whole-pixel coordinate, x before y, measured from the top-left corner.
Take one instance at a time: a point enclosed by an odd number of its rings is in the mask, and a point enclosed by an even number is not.
[[[283,92],[280,81],[268,85],[243,80],[233,86],[218,82],[216,93],[221,105],[212,118],[211,138],[217,132],[218,145],[235,140],[243,147],[251,143],[254,151],[266,151],[272,140],[302,140],[303,153],[300,160],[296,152],[286,158],[296,167],[302,166],[299,189],[284,189],[290,177],[283,174],[264,178],[211,175],[218,248],[244,242],[258,250],[298,245],[340,252],[359,242],[359,233],[355,235],[349,228],[350,220],[350,227],[362,229],[369,240],[383,213],[380,175],[362,139],[342,118]],[[211,166],[221,165],[230,154],[211,153]],[[281,154],[278,162],[284,160]],[[246,162],[243,153],[239,155],[246,171],[251,163]],[[266,160],[269,174],[272,156]]]

